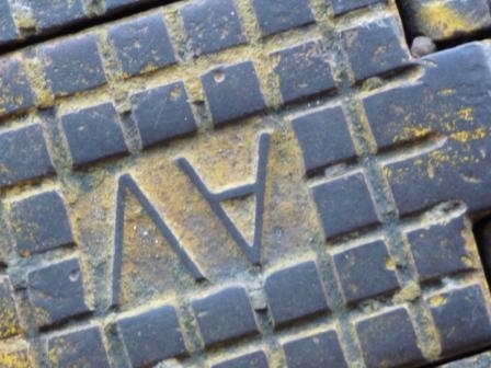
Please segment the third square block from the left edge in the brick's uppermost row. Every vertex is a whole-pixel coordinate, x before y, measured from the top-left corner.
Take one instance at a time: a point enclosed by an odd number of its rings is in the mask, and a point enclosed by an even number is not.
[[[135,76],[176,61],[163,15],[155,13],[113,25],[109,38],[125,74]]]

